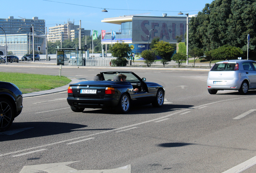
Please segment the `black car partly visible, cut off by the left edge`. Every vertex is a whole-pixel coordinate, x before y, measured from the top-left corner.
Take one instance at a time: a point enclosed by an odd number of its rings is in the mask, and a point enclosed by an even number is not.
[[[22,93],[15,84],[0,81],[0,131],[6,131],[21,113],[22,101]]]

